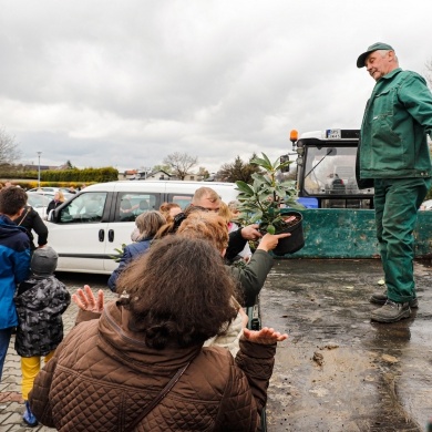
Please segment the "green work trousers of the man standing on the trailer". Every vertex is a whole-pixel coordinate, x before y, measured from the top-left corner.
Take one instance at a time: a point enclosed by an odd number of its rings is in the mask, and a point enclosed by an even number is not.
[[[415,297],[413,230],[418,209],[431,185],[431,178],[374,179],[377,238],[387,296],[395,302]]]

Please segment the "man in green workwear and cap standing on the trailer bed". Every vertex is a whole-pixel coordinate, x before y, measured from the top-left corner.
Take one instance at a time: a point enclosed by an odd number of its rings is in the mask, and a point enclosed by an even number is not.
[[[428,134],[432,136],[432,94],[415,72],[402,71],[392,47],[377,42],[357,60],[377,81],[364,110],[359,147],[360,181],[373,182],[377,237],[387,291],[371,302],[371,315],[395,322],[418,307],[413,277],[413,229],[432,185]]]

